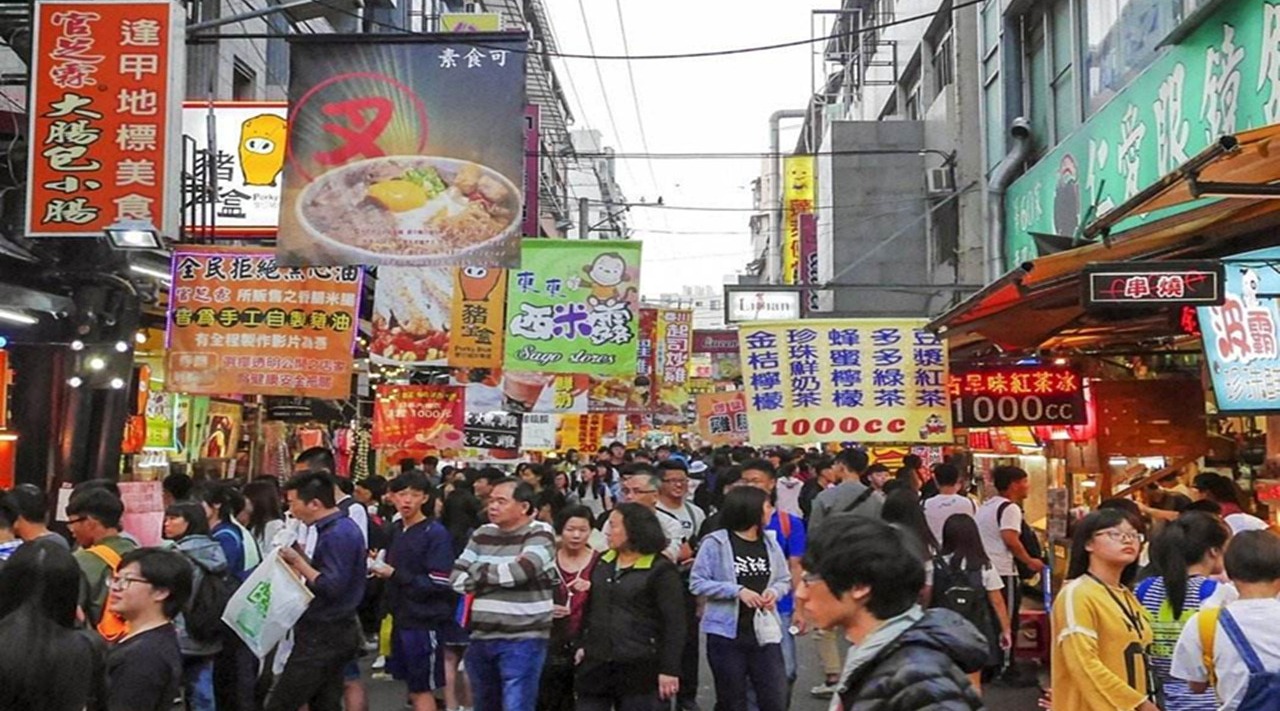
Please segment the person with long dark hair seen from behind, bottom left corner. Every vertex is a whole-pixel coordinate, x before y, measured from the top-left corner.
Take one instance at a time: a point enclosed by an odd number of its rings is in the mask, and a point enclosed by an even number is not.
[[[19,546],[0,570],[0,708],[82,711],[105,699],[105,650],[76,629],[81,570],[67,548]]]

